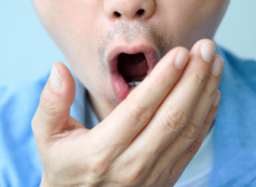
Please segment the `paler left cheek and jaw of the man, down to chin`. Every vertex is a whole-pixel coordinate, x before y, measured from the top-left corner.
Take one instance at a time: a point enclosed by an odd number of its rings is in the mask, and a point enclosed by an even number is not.
[[[104,32],[106,34],[106,28],[101,28],[104,20],[99,2],[97,0],[65,1],[65,3],[63,0],[34,1],[45,29],[58,44],[80,81],[91,92],[103,97],[102,88],[109,81],[106,73],[100,73],[97,56],[100,36],[103,36]],[[111,85],[109,84],[107,88],[109,88],[106,90],[107,93],[112,96]]]

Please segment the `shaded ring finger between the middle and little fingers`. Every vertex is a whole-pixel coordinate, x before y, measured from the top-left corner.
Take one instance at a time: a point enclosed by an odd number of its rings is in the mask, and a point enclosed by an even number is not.
[[[180,153],[186,150],[195,138],[197,138],[202,124],[204,123],[204,119],[214,101],[214,97],[220,96],[218,85],[221,79],[223,65],[223,59],[216,56],[211,69],[211,76],[204,86],[204,90],[201,92],[197,104],[190,115],[190,119],[176,139],[168,146],[167,150],[164,150],[163,155],[161,156],[165,157],[163,158],[163,162],[168,163],[170,160],[176,160],[176,157],[179,157]]]

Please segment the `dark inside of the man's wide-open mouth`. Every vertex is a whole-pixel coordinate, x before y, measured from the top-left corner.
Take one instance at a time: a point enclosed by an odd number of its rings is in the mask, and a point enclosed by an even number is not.
[[[118,57],[117,68],[127,83],[142,82],[149,70],[146,57],[143,53],[121,53]]]

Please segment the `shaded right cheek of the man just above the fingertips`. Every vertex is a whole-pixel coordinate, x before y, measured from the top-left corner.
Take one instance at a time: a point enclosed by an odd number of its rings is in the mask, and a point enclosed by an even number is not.
[[[228,3],[229,0],[159,1],[162,24],[168,27],[164,28],[164,35],[170,41],[170,48],[183,45],[190,49],[201,38],[212,39]]]

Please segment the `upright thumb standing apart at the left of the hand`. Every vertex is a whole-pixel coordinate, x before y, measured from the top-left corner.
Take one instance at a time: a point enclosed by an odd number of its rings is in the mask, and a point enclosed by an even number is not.
[[[71,72],[63,63],[54,63],[38,110],[32,119],[32,130],[36,139],[48,140],[70,129],[70,107],[74,97],[75,83]]]

